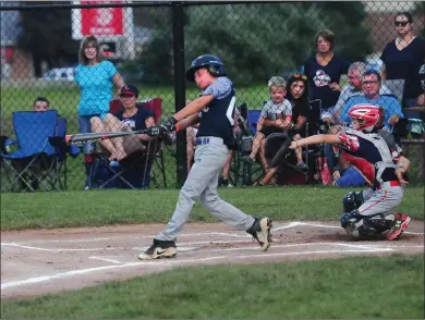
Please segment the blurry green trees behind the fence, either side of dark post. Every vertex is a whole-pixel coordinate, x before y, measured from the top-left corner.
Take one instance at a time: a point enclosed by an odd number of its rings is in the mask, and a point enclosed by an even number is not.
[[[186,65],[199,54],[217,54],[238,85],[265,82],[270,75],[300,69],[316,50],[314,36],[325,27],[336,33],[336,52],[344,59],[363,60],[372,51],[361,2],[196,5],[187,7],[185,13]],[[168,21],[167,15],[163,21]],[[168,26],[156,24],[155,37],[139,58],[150,67],[146,82],[170,79],[163,72],[168,67],[171,72],[172,65]]]

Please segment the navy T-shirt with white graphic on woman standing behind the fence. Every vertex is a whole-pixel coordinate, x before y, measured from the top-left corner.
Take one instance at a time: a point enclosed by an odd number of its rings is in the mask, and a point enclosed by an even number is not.
[[[339,84],[341,74],[347,74],[349,65],[349,62],[337,54],[333,54],[325,66],[317,63],[316,56],[308,58],[304,65],[304,74],[309,82],[309,99],[320,99],[323,109],[336,106],[340,91],[332,90],[329,85]]]

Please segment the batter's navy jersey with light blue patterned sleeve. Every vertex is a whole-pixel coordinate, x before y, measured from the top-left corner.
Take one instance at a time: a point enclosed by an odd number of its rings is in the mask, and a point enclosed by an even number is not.
[[[218,77],[201,96],[212,95],[214,100],[199,112],[201,123],[197,137],[222,138],[227,146],[233,141],[234,88],[224,76]]]

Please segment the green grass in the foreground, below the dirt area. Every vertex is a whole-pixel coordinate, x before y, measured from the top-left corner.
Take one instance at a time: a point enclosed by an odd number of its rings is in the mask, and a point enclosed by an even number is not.
[[[424,255],[179,268],[32,300],[4,318],[420,319]]]

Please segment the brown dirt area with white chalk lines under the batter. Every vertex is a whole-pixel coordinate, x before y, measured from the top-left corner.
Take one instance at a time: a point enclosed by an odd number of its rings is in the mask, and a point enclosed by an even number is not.
[[[28,297],[160,272],[178,266],[265,263],[325,257],[424,251],[424,223],[412,221],[399,241],[352,242],[337,223],[274,222],[272,245],[259,250],[245,232],[224,224],[187,224],[178,257],[139,261],[163,224],[1,233],[1,297]]]

